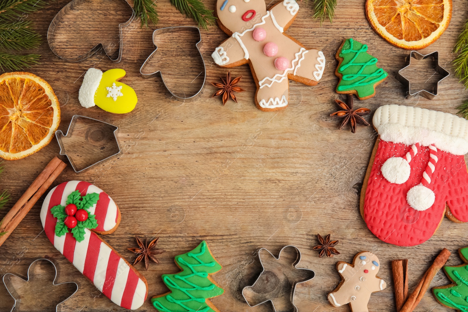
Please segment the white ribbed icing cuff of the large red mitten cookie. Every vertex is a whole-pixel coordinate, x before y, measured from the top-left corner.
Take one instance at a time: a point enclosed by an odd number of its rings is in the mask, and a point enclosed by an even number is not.
[[[380,106],[372,121],[384,141],[432,144],[454,155],[468,152],[468,120],[452,114],[391,104]]]

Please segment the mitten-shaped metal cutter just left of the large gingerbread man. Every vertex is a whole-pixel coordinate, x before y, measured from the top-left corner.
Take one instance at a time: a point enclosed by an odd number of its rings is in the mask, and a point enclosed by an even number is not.
[[[178,96],[178,95],[174,94],[171,90],[169,90],[166,82],[164,81],[164,77],[162,77],[162,73],[161,73],[160,70],[158,70],[158,71],[156,71],[154,73],[143,73],[143,68],[147,65],[149,60],[153,57],[154,53],[156,53],[156,51],[158,51],[158,46],[156,45],[155,40],[154,40],[156,36],[164,34],[164,33],[168,33],[168,32],[181,31],[181,30],[186,30],[186,29],[196,29],[197,32],[198,32],[198,36],[200,37],[200,40],[198,40],[197,44],[195,44],[195,45],[197,46],[197,51],[200,54],[200,58],[202,59],[202,63],[203,63],[203,84],[200,87],[200,89],[197,91],[196,94],[193,94],[193,95],[190,95],[190,96]],[[205,66],[205,61],[203,60],[202,53],[200,51],[200,47],[202,46],[202,35],[200,33],[200,29],[198,29],[198,27],[195,27],[195,26],[177,26],[177,27],[166,27],[166,28],[156,29],[153,32],[153,44],[156,47],[156,49],[153,51],[153,53],[150,54],[150,56],[148,58],[146,58],[145,63],[143,63],[143,65],[141,65],[141,67],[140,67],[141,77],[143,77],[143,78],[153,78],[153,77],[161,76],[161,80],[162,80],[162,83],[164,84],[164,87],[169,91],[169,93],[172,95],[172,97],[174,97],[177,101],[192,102],[192,101],[196,100],[200,96],[200,94],[201,94],[201,92],[203,90],[203,87],[205,87],[205,81],[206,81],[206,66]]]

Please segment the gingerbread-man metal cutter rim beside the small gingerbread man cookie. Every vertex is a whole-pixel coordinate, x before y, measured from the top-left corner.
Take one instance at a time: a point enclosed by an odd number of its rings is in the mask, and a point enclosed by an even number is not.
[[[292,268],[299,269],[299,270],[309,271],[309,276],[308,276],[307,278],[304,278],[304,279],[302,279],[302,280],[300,280],[300,281],[294,281],[293,284],[292,284],[291,297],[289,298],[289,301],[291,302],[291,305],[292,305],[292,307],[294,308],[293,312],[297,312],[297,311],[298,311],[296,305],[294,305],[294,293],[295,293],[295,290],[296,290],[296,285],[297,285],[297,284],[300,284],[300,283],[304,283],[304,282],[310,281],[311,279],[313,279],[313,278],[315,277],[315,272],[314,272],[314,270],[311,270],[311,269],[308,269],[308,268],[298,268],[298,267],[297,267],[298,264],[299,264],[299,262],[300,262],[301,254],[300,254],[299,248],[298,248],[298,247],[295,247],[295,246],[292,246],[292,245],[287,245],[287,246],[281,248],[281,249],[279,250],[278,257],[275,257],[275,256],[274,256],[268,249],[266,249],[266,248],[261,248],[261,249],[258,250],[258,260],[260,260],[260,264],[262,265],[262,272],[260,272],[260,275],[257,277],[255,283],[253,283],[253,284],[250,285],[250,286],[246,286],[246,287],[244,287],[244,288],[242,289],[242,297],[244,297],[244,300],[247,302],[247,304],[249,305],[249,307],[254,307],[254,306],[257,306],[257,305],[262,305],[262,304],[264,304],[264,303],[266,303],[266,302],[270,302],[271,305],[273,306],[273,311],[274,311],[274,312],[277,312],[276,307],[275,307],[275,305],[274,305],[274,303],[273,303],[273,300],[276,299],[276,298],[278,298],[278,297],[280,297],[280,296],[277,296],[277,297],[275,297],[275,298],[268,298],[268,299],[265,299],[265,300],[263,300],[262,302],[257,303],[257,304],[255,304],[255,305],[250,305],[249,300],[247,299],[247,297],[246,297],[246,295],[245,295],[245,292],[246,292],[247,289],[254,287],[255,284],[262,278],[262,275],[263,275],[264,272],[265,272],[265,267],[263,266],[262,258],[261,258],[261,256],[260,256],[262,250],[265,250],[266,252],[268,252],[269,254],[271,254],[271,256],[272,256],[273,258],[275,258],[276,260],[279,260],[280,257],[281,257],[281,253],[283,252],[283,250],[284,250],[285,248],[293,248],[293,249],[295,249],[295,251],[296,251],[296,253],[297,253],[296,260],[292,263]],[[255,291],[252,291],[252,292],[255,293]],[[266,295],[265,295],[265,296],[266,296]]]

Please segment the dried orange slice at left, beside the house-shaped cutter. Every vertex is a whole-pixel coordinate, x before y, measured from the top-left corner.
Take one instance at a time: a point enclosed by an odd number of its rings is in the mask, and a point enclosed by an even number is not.
[[[49,144],[60,123],[59,100],[32,73],[0,75],[0,157],[17,160]]]

